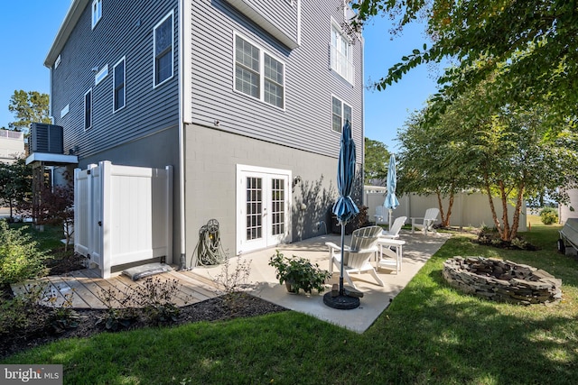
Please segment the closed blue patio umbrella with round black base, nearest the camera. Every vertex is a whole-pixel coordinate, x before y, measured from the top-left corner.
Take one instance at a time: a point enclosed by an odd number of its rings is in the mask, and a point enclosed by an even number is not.
[[[347,121],[343,126],[340,143],[340,158],[337,164],[337,189],[340,194],[333,205],[333,214],[337,216],[341,225],[341,268],[340,268],[340,298],[331,298],[331,293],[323,298],[326,305],[336,308],[353,308],[359,307],[359,298],[346,298],[343,292],[343,257],[344,257],[344,238],[345,225],[359,214],[359,208],[351,199],[351,189],[353,188],[353,179],[355,179],[355,143],[351,139],[351,125]],[[352,300],[357,306],[349,304]]]

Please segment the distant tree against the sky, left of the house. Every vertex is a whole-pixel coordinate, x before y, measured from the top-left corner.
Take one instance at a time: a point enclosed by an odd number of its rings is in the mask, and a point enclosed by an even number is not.
[[[8,110],[16,120],[9,124],[15,131],[27,131],[33,123],[51,123],[49,96],[38,91],[14,90]]]

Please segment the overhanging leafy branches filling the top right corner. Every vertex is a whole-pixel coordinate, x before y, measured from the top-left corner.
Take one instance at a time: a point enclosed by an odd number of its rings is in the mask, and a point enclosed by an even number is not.
[[[433,41],[402,57],[375,83],[378,90],[420,64],[450,59],[458,64],[438,80],[443,85],[437,96],[442,110],[457,96],[495,77],[487,87],[496,106],[548,105],[550,114],[576,117],[576,1],[354,0],[351,6],[357,12],[354,30],[376,15],[387,15],[394,33],[421,19]]]

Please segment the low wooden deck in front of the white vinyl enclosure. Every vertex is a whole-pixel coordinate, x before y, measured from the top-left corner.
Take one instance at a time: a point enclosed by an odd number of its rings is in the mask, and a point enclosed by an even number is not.
[[[169,271],[156,274],[151,277],[161,282],[178,282],[178,291],[174,294],[173,303],[179,307],[191,305],[205,299],[219,295],[216,285],[205,277],[192,271]],[[131,292],[131,288],[144,288],[145,279],[131,280],[122,274],[117,274],[108,280],[98,277],[98,270],[85,269],[72,271],[66,275],[44,277],[41,280],[33,280],[20,285],[13,285],[15,295],[23,294],[30,285],[47,283],[52,303],[46,300],[44,305],[61,307],[68,296],[75,308],[107,308],[101,298],[104,298],[106,290],[117,294],[117,298],[123,298],[123,293]],[[116,302],[116,301],[113,301]],[[120,307],[118,303],[117,306]]]

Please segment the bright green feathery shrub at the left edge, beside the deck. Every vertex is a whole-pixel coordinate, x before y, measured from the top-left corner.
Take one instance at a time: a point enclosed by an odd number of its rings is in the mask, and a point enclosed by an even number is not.
[[[38,249],[23,228],[11,229],[0,221],[0,284],[36,278],[45,271],[48,255]]]

